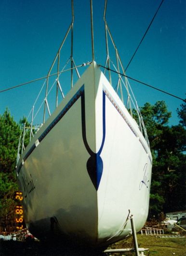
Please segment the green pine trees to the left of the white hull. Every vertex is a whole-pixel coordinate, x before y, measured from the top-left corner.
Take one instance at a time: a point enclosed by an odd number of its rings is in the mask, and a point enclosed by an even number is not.
[[[15,166],[20,126],[8,109],[0,115],[0,227],[14,225],[14,192],[18,190]]]

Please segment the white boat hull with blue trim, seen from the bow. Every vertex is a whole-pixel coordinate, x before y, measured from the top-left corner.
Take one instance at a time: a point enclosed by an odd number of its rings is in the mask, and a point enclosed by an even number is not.
[[[17,165],[27,228],[95,247],[143,227],[152,157],[136,122],[93,62]]]

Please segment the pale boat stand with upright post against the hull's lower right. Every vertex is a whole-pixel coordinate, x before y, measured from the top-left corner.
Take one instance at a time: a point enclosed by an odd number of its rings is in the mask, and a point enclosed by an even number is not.
[[[125,249],[107,249],[104,251],[104,253],[108,255],[112,255],[112,253],[128,253],[128,252],[135,252],[135,256],[145,256],[144,251],[148,250],[145,248],[138,248],[138,243],[137,243],[137,236],[136,236],[136,230],[135,230],[135,224],[133,221],[133,215],[130,217],[131,220],[131,227],[132,227],[132,234],[133,234],[133,244],[134,248],[125,248]]]

